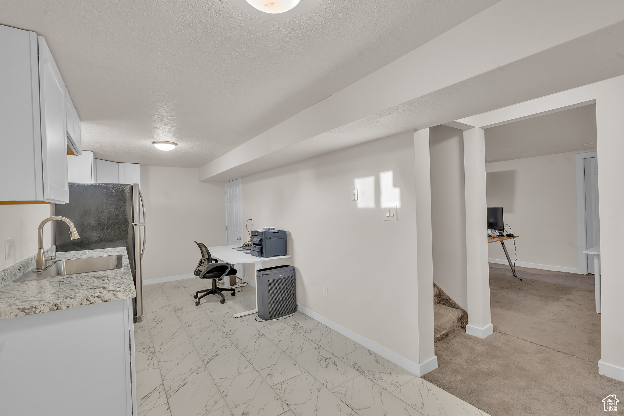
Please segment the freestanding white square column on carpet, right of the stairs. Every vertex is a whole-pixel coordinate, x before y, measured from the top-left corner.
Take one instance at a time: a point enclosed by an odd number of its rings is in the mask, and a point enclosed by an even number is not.
[[[485,132],[464,130],[466,180],[466,333],[485,338],[494,328],[490,318],[490,274],[487,263],[487,195],[485,191]]]

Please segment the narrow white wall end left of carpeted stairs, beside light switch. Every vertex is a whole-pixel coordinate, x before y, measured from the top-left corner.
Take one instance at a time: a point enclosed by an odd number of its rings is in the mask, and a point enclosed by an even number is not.
[[[416,261],[418,283],[418,364],[420,374],[437,368],[433,334],[433,243],[429,128],[414,132],[416,160]]]

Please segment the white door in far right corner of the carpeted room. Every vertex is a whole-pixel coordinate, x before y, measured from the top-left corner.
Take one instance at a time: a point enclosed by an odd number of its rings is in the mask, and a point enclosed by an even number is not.
[[[587,248],[600,245],[600,216],[598,215],[598,158],[583,159],[585,171],[585,227]],[[593,254],[587,254],[587,273],[594,273]]]

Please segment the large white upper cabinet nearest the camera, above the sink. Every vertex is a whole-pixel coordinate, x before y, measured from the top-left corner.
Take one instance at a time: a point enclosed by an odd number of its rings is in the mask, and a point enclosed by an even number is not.
[[[66,88],[46,41],[0,25],[0,204],[64,203]]]

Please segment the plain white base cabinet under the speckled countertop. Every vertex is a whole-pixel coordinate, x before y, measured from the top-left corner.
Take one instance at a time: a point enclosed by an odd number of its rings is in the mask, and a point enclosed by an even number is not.
[[[0,414],[136,415],[132,299],[0,319]]]

